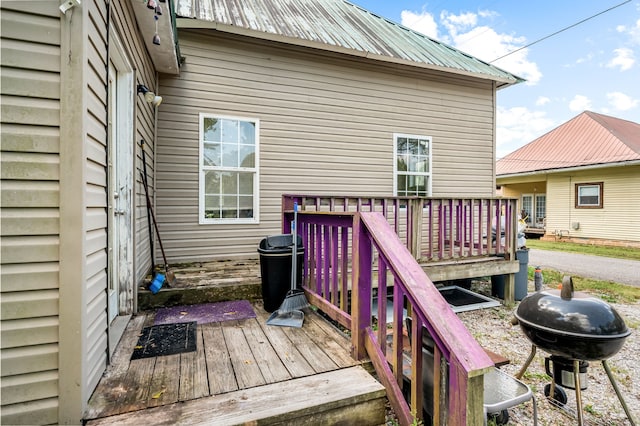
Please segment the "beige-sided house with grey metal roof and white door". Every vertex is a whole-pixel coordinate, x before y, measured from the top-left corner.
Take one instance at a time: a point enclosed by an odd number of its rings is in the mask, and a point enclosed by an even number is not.
[[[141,140],[170,262],[257,256],[286,192],[494,195],[517,77],[343,0],[179,0],[179,45],[147,4],[1,3],[3,424],[80,423],[136,311]]]

